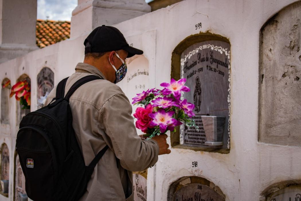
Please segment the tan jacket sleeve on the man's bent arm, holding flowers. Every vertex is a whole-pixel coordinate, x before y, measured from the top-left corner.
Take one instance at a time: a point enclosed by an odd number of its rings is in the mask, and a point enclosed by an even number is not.
[[[132,105],[125,94],[119,93],[101,107],[99,122],[121,166],[129,171],[142,171],[157,162],[159,146],[155,140],[141,140],[131,114]]]

